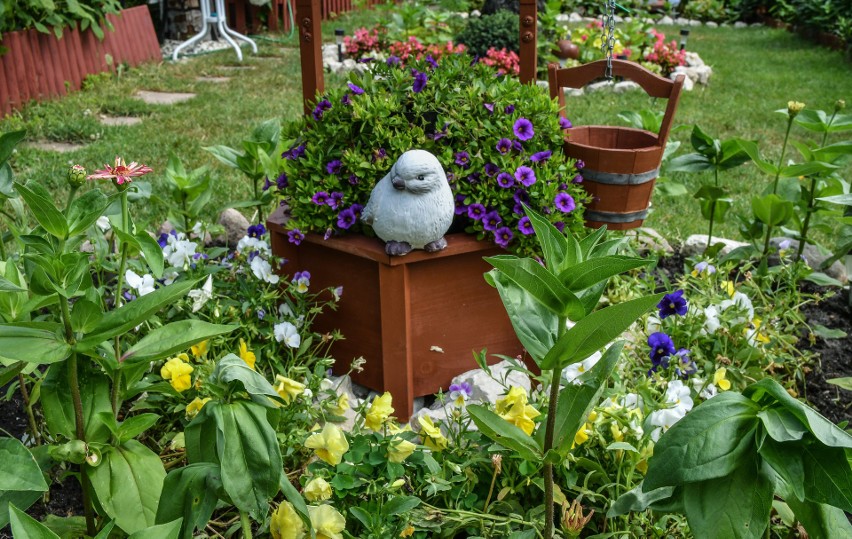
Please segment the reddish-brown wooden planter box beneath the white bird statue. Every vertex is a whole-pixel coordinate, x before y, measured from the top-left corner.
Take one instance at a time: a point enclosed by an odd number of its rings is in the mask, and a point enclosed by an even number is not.
[[[318,317],[314,329],[343,333],[334,343],[335,371],[364,357],[359,384],[390,391],[401,421],[412,413],[415,397],[447,391],[452,378],[475,369],[474,353],[516,356],[522,352],[497,291],[483,273],[482,258],[505,253],[467,234],[450,234],[438,253],[385,254],[375,238],[346,236],[323,240],[309,235],[296,246],[287,240],[280,210],[267,221],[272,251],[284,257],[284,272],[311,273],[311,288],[343,286],[336,311]]]

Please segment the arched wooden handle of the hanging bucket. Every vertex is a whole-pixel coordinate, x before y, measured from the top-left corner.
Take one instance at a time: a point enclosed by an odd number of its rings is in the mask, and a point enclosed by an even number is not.
[[[582,88],[593,80],[603,77],[605,73],[606,60],[597,60],[588,64],[561,69],[559,64],[549,64],[547,76],[550,97],[551,99],[559,99],[560,113],[564,114],[565,111],[565,90],[563,88]],[[675,80],[670,80],[648,71],[635,62],[613,58],[612,75],[635,82],[651,97],[661,97],[668,100],[663,121],[660,123],[660,132],[657,135],[657,144],[665,146],[669,139],[675,110],[677,110],[677,104],[680,101],[684,74],[680,73]]]

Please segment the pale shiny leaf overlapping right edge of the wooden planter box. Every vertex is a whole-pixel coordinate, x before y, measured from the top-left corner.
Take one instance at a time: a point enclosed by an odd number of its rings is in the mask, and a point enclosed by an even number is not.
[[[497,288],[518,340],[533,360],[540,363],[556,342],[559,317],[498,270],[491,270],[485,277]]]

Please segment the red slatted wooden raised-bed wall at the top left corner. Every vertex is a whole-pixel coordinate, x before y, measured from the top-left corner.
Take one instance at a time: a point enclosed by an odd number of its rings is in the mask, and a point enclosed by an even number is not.
[[[115,69],[121,63],[135,66],[159,60],[160,45],[147,5],[107,15],[114,30],[103,41],[91,31],[63,29],[62,39],[35,29],[3,34],[0,44],[0,116],[30,100],[42,100],[79,90],[86,76]],[[106,55],[112,57],[112,65]]]

